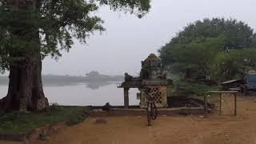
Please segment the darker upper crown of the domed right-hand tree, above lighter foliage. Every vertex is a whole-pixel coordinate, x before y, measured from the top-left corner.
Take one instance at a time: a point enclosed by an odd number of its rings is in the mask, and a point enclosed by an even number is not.
[[[172,49],[176,45],[190,45],[197,39],[205,38],[222,38],[223,46],[217,49],[226,48],[243,49],[255,46],[254,30],[245,22],[236,19],[224,18],[206,18],[203,21],[190,23],[180,31],[174,38],[170,40],[166,46],[162,46],[159,50],[160,57],[166,64],[172,64],[175,61]]]

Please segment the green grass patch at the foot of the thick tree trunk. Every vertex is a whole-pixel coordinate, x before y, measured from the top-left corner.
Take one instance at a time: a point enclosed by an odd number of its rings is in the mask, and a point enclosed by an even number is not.
[[[46,126],[54,122],[69,122],[72,118],[79,117],[82,122],[89,109],[82,106],[58,106],[53,105],[44,113],[27,113],[15,111],[1,114],[0,133],[2,134],[26,134],[41,126]],[[83,115],[83,119],[80,118]],[[74,122],[73,122],[74,123]]]

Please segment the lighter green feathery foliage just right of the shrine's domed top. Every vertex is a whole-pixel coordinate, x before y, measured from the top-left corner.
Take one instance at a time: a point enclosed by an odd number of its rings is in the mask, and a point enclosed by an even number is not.
[[[210,64],[222,46],[222,38],[200,38],[189,44],[177,44],[171,49],[176,62],[174,69],[185,71],[190,67],[198,73],[209,74]]]

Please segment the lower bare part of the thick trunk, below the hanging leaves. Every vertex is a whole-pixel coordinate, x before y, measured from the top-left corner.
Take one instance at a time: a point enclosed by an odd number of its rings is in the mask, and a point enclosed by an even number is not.
[[[31,54],[22,64],[10,66],[8,94],[1,100],[3,110],[44,110],[48,104],[42,90],[40,54]]]

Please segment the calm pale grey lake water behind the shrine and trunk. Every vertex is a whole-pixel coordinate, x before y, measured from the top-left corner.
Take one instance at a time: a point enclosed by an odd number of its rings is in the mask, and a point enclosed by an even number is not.
[[[44,93],[50,103],[57,102],[65,106],[103,106],[110,102],[112,106],[123,106],[123,89],[120,82],[80,83],[70,85],[45,85]],[[7,85],[0,85],[0,98],[6,96]],[[138,105],[137,89],[130,89],[130,105]]]

